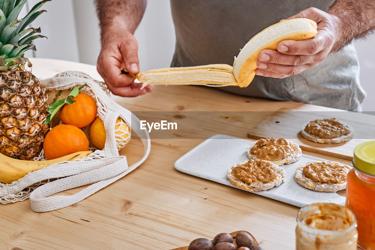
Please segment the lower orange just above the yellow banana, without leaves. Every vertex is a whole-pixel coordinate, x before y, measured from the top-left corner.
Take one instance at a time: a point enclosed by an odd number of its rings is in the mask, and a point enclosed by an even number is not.
[[[85,133],[73,125],[57,125],[44,138],[43,151],[47,160],[87,151],[89,140]]]

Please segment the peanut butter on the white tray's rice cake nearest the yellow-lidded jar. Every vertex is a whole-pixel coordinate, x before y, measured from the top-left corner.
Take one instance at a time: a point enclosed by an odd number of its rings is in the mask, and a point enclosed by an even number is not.
[[[312,162],[303,168],[303,173],[310,179],[321,183],[341,183],[347,179],[350,169],[344,164],[322,161]]]

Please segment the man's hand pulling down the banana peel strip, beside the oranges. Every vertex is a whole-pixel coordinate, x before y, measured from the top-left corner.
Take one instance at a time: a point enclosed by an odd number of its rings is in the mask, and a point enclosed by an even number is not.
[[[142,83],[135,83],[135,78],[121,74],[123,68],[132,74],[139,71],[138,43],[126,29],[102,30],[102,49],[96,68],[114,95],[136,97],[152,90],[150,85],[141,90]]]

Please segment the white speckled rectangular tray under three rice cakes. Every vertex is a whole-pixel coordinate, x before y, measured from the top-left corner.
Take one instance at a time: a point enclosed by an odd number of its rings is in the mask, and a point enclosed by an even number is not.
[[[179,158],[174,163],[174,167],[189,175],[234,187],[226,178],[226,171],[234,164],[249,160],[246,155],[246,147],[249,142],[249,140],[217,134]],[[333,202],[345,205],[345,197],[336,192],[313,191],[302,187],[294,180],[294,172],[297,167],[314,160],[323,161],[324,159],[302,155],[297,162],[282,166],[285,170],[284,183],[267,191],[251,193],[299,207],[315,202]]]

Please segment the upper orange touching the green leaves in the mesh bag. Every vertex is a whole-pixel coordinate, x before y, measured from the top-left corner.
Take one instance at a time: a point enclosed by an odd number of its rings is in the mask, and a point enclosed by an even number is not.
[[[77,128],[86,127],[96,117],[96,102],[91,96],[82,93],[73,97],[73,100],[73,104],[65,104],[60,108],[60,120],[63,124],[74,125]]]

